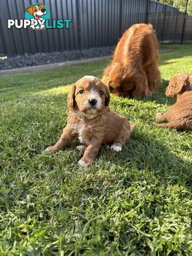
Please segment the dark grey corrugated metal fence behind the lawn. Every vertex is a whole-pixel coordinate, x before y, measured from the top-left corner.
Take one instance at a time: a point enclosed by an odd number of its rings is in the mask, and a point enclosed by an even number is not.
[[[183,0],[185,1],[185,0]],[[9,55],[116,45],[134,23],[152,23],[159,41],[180,42],[185,13],[152,0],[42,0],[51,19],[72,19],[69,29],[7,29],[8,19],[25,19],[36,0],[0,1],[0,53]],[[192,40],[192,16],[185,22]]]

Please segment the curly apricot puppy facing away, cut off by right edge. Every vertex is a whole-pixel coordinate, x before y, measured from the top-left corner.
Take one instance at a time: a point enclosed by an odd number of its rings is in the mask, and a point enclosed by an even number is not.
[[[192,76],[187,73],[174,75],[165,94],[177,98],[177,102],[165,114],[156,114],[156,119],[168,123],[154,124],[178,130],[192,130]]]

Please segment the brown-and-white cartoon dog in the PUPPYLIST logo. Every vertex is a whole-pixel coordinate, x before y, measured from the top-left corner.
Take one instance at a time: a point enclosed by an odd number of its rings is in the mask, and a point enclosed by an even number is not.
[[[29,12],[30,15],[33,15],[35,17],[35,19],[30,19],[30,20],[43,20],[41,16],[46,14],[46,10],[43,4],[32,5],[29,8],[27,8],[26,11]],[[34,25],[31,25],[30,28],[39,29],[39,27],[35,27]],[[41,25],[40,29],[44,29],[44,28],[45,26]]]

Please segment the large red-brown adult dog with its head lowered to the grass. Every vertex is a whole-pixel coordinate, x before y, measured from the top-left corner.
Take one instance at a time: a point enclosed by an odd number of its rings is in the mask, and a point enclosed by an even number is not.
[[[152,25],[131,26],[118,42],[113,61],[103,71],[102,82],[116,96],[151,95],[162,83],[158,51]]]

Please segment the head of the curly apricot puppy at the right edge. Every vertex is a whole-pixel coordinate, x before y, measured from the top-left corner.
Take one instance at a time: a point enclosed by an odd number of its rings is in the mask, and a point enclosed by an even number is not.
[[[170,97],[177,97],[189,84],[189,75],[187,73],[179,73],[171,77],[165,94]]]

